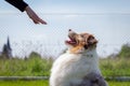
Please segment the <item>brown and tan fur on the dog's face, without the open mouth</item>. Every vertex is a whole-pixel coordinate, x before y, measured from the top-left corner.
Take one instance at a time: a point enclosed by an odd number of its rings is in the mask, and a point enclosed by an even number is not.
[[[87,32],[84,33],[76,33],[74,31],[69,31],[68,37],[76,41],[76,44],[72,44],[74,47],[70,49],[70,53],[78,54],[81,53],[83,49],[88,48],[91,44],[96,44],[96,40],[92,34]]]

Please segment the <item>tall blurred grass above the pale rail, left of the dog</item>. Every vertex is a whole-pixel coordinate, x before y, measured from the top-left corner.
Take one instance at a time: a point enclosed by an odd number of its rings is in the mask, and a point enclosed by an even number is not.
[[[39,57],[0,59],[0,76],[49,76],[51,67],[51,59]]]

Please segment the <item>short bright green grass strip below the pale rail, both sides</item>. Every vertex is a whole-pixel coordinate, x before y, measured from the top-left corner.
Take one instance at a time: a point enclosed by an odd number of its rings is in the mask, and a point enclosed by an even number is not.
[[[109,86],[130,86],[130,82],[108,82]],[[0,81],[0,86],[49,86],[48,81]]]

